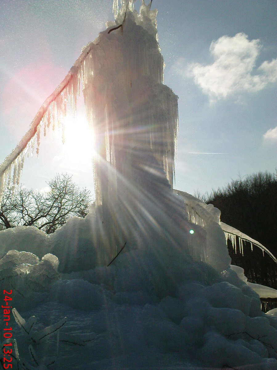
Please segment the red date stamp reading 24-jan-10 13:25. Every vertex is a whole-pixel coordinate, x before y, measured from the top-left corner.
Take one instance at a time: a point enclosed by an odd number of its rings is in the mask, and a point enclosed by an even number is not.
[[[4,337],[4,340],[7,340],[7,339],[10,339],[12,338],[12,333],[11,333],[11,325],[10,325],[10,314],[11,314],[11,301],[12,301],[12,298],[11,298],[11,293],[12,293],[12,290],[8,291],[8,290],[4,290],[3,291],[3,294],[4,294],[4,298],[3,298],[3,301],[6,302],[6,303],[3,303],[3,305],[1,305],[1,308],[3,309],[3,321],[4,321],[4,333],[3,333],[3,337]],[[3,367],[4,369],[12,369],[12,364],[11,364],[11,361],[12,361],[12,357],[11,357],[11,354],[12,354],[12,343],[6,343],[6,344],[3,344]]]

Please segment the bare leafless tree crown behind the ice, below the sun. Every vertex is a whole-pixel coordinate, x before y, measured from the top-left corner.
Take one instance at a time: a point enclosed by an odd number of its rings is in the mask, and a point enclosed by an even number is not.
[[[25,225],[51,234],[68,218],[87,215],[90,192],[74,184],[72,176],[58,174],[47,184],[50,190],[45,194],[19,186],[12,196],[12,189],[6,187],[0,210],[0,230]]]

